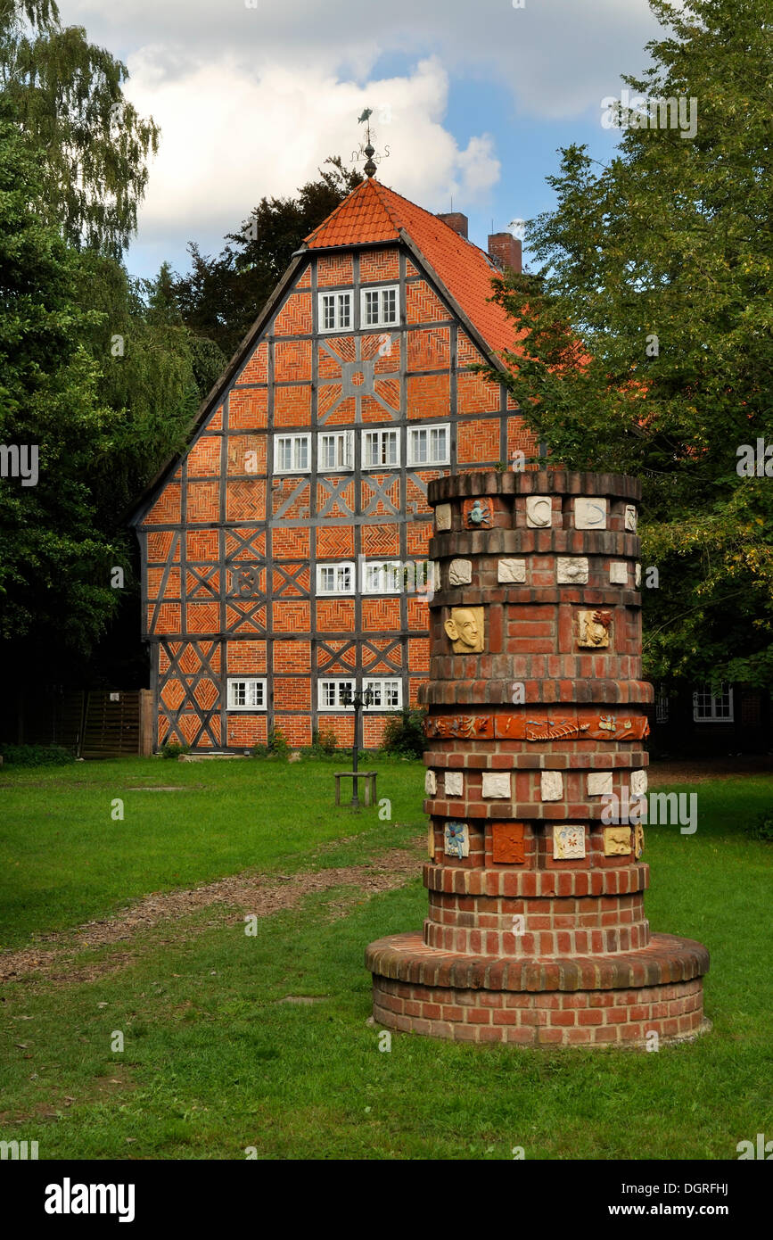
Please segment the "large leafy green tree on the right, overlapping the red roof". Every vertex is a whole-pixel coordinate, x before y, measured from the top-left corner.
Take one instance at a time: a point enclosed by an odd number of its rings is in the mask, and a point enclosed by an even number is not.
[[[624,81],[695,100],[695,136],[640,103],[608,166],[561,153],[528,232],[539,270],[497,281],[508,383],[555,460],[643,480],[648,675],[773,686],[773,481],[737,469],[773,444],[771,9],[650,7],[666,31]]]

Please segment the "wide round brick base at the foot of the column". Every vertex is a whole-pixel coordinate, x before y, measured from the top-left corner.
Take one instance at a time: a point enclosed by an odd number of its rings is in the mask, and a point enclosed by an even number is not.
[[[386,1029],[525,1047],[647,1047],[704,1033],[706,949],[653,935],[613,956],[503,960],[427,947],[420,934],[372,942],[373,1017]]]

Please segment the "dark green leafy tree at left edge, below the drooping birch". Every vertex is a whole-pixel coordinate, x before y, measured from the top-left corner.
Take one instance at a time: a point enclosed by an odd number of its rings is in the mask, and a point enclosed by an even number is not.
[[[95,316],[77,304],[78,255],[36,207],[42,181],[2,104],[0,443],[26,448],[27,465],[32,453],[37,463],[25,482],[9,456],[0,479],[0,636],[30,645],[38,660],[47,641],[88,649],[115,609],[110,568],[121,563],[89,486],[116,414],[98,398],[98,368],[83,345]]]

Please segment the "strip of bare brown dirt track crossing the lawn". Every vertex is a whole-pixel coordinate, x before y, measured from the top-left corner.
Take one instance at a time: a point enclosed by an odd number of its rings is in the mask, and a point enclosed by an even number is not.
[[[295,908],[306,895],[334,887],[353,887],[365,895],[389,892],[416,878],[424,847],[425,839],[419,838],[415,849],[390,848],[364,866],[301,870],[297,874],[242,873],[190,890],[155,892],[113,916],[41,936],[31,947],[0,952],[0,982],[46,980],[73,985],[116,972],[134,960],[131,950],[113,954],[109,959],[90,965],[73,962],[84,951],[116,942],[130,944],[135,935],[145,930],[162,923],[171,925],[201,909],[213,908],[218,916],[203,925],[187,926],[186,936],[201,934],[208,926],[238,920],[247,913],[268,918]],[[325,851],[328,849],[321,849]],[[234,914],[235,909],[239,910],[238,915]]]

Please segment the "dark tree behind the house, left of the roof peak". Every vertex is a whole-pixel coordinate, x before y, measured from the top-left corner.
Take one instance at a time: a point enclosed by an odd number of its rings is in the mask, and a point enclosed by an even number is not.
[[[330,156],[320,179],[301,186],[296,198],[261,198],[239,232],[228,233],[217,258],[188,244],[192,267],[175,281],[183,321],[230,357],[269,300],[304,237],[362,181],[357,171]]]

